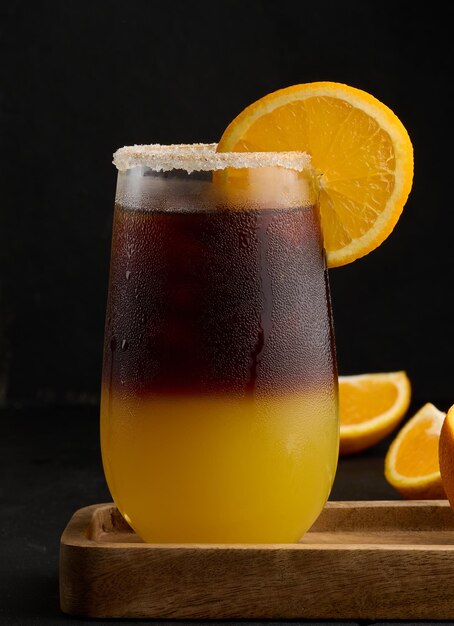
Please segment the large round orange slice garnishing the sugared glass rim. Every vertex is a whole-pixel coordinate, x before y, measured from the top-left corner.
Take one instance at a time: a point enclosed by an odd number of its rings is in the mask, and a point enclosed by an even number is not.
[[[310,154],[329,267],[350,263],[393,230],[413,180],[413,148],[397,116],[370,94],[316,82],[270,93],[226,128],[221,152]]]

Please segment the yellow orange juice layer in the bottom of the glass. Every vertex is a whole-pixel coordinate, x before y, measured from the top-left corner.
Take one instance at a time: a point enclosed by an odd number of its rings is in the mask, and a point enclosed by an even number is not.
[[[102,392],[104,470],[150,542],[293,542],[328,498],[337,452],[329,388],[262,398]]]

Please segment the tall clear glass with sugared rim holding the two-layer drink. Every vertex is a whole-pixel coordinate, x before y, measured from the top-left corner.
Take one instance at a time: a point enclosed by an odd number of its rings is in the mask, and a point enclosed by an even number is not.
[[[148,542],[294,542],[336,472],[337,368],[301,153],[133,146],[101,395],[112,497]]]

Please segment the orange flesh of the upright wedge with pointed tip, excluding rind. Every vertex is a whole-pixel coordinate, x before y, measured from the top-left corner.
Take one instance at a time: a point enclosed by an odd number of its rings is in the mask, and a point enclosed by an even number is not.
[[[426,476],[437,472],[439,434],[431,419],[421,419],[402,439],[396,455],[395,469],[402,476]],[[417,454],[423,450],[423,454]]]

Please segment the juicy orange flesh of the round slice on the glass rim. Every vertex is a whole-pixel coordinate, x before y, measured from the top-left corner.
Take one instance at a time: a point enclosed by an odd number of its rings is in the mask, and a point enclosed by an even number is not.
[[[289,128],[291,134],[285,131]],[[395,155],[389,134],[364,111],[338,98],[314,96],[278,107],[253,122],[233,150],[311,154],[314,168],[323,172],[320,201],[330,250],[363,235],[394,189]],[[366,153],[367,158],[361,158]],[[364,185],[365,180],[369,184]],[[333,202],[336,196],[341,203]],[[336,223],[339,230],[333,231]]]

